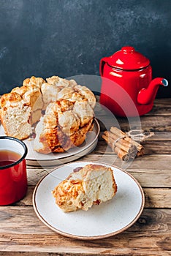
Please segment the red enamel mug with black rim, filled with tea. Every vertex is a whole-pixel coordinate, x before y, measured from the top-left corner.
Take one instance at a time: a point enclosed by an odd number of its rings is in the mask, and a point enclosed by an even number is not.
[[[15,203],[26,195],[26,154],[23,141],[0,137],[0,206]]]

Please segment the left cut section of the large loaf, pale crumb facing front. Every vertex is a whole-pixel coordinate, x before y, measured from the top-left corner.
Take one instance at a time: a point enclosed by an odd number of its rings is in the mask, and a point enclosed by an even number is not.
[[[21,86],[12,89],[0,99],[1,123],[4,132],[23,140],[31,134],[32,124],[42,115],[42,94],[37,86]]]

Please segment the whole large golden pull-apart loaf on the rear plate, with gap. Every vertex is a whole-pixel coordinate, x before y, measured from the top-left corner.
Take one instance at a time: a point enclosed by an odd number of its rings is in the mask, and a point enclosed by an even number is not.
[[[75,80],[26,78],[0,99],[0,118],[7,136],[35,137],[34,150],[42,154],[79,146],[94,127],[96,98]]]

